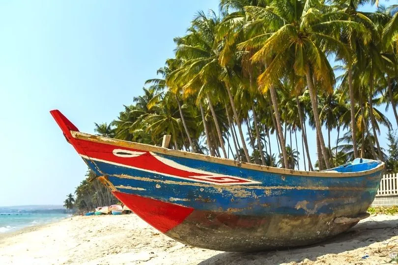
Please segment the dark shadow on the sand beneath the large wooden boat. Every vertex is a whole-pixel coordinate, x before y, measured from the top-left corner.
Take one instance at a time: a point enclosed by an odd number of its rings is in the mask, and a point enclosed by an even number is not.
[[[395,230],[396,229],[396,230]],[[395,231],[394,231],[395,230]],[[339,254],[369,246],[375,242],[382,242],[398,235],[397,219],[374,221],[372,217],[366,219],[334,238],[323,242],[289,249],[263,252],[224,252],[217,254],[199,265],[225,264],[280,264],[302,262],[304,259],[316,261],[326,254]],[[366,255],[365,253],[363,255]]]

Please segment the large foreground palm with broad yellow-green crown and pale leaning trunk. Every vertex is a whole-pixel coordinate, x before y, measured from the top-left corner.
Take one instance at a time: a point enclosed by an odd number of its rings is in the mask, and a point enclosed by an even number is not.
[[[335,11],[333,16],[323,13],[325,8],[316,0],[274,0],[265,8],[246,6],[246,12],[267,30],[261,29],[256,37],[239,46],[258,49],[252,56],[254,62],[270,61],[257,80],[264,91],[271,90],[271,95],[275,94],[274,84],[284,77],[286,69],[294,69],[296,75],[306,77],[322,155],[326,166],[330,167],[315,100],[315,85],[332,91],[334,74],[325,53],[345,51],[343,43],[335,37],[336,33],[341,27],[353,26],[355,22],[341,20],[346,17],[343,12]],[[254,28],[258,30],[258,27]]]

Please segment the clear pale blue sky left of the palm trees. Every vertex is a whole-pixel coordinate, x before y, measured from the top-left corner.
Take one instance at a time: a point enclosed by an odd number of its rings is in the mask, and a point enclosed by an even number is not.
[[[0,206],[62,204],[86,166],[49,110],[82,132],[112,121],[208,8],[218,0],[0,1]]]

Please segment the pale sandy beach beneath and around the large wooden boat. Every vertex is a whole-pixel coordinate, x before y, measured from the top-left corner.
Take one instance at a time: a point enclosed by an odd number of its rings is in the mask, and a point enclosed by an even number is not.
[[[74,216],[0,235],[0,264],[388,264],[398,252],[398,215],[373,215],[307,247],[238,253],[190,247],[137,215]],[[368,255],[368,256],[367,256]]]

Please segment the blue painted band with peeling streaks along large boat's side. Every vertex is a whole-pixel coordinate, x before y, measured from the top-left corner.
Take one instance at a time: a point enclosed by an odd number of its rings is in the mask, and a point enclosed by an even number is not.
[[[360,177],[324,178],[281,176],[261,172],[262,185],[214,186],[195,182],[172,182],[171,178],[137,169],[90,160],[86,163],[99,175],[107,175],[116,191],[151,197],[203,211],[265,215],[328,214],[359,203],[370,205],[380,183],[381,172]],[[206,170],[212,165],[207,163]],[[216,168],[216,167],[215,167]],[[234,169],[234,168],[232,168]],[[227,168],[217,168],[226,171]],[[240,170],[240,175],[253,175]],[[229,173],[231,174],[231,173]],[[236,172],[233,172],[236,174]],[[362,212],[366,212],[363,209]]]

